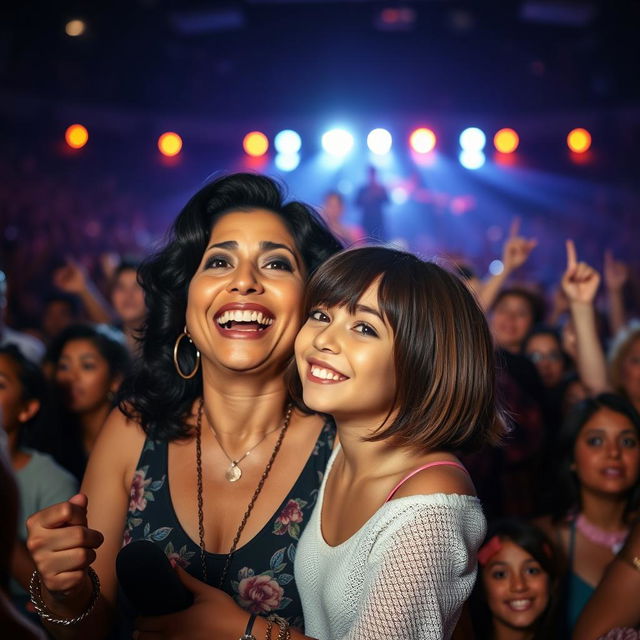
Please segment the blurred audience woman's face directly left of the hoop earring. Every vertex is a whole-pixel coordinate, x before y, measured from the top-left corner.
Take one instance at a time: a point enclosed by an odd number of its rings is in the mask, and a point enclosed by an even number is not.
[[[91,340],[69,340],[56,366],[56,383],[64,392],[71,413],[89,413],[111,404],[110,396],[119,386],[108,361]]]

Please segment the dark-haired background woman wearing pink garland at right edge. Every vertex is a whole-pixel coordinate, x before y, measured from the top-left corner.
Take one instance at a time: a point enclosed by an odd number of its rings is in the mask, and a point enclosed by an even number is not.
[[[566,621],[573,628],[640,507],[640,415],[602,393],[575,405],[550,465],[552,512],[539,521],[566,563]]]

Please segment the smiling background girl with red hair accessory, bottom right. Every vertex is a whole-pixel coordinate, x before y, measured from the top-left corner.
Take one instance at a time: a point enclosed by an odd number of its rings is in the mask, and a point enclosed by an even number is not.
[[[491,523],[478,551],[472,596],[479,640],[552,640],[558,636],[558,562],[547,537],[525,520]]]

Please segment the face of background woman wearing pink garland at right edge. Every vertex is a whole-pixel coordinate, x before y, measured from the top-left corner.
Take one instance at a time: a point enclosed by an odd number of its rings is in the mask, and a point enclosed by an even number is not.
[[[607,407],[596,411],[578,433],[574,466],[582,491],[626,494],[640,476],[639,437],[631,420]]]

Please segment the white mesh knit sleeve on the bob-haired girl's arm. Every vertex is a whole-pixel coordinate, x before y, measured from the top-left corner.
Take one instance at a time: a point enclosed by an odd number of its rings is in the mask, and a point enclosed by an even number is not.
[[[345,640],[449,638],[476,576],[482,511],[461,496],[413,504],[378,535]],[[468,506],[468,505],[467,505]]]

